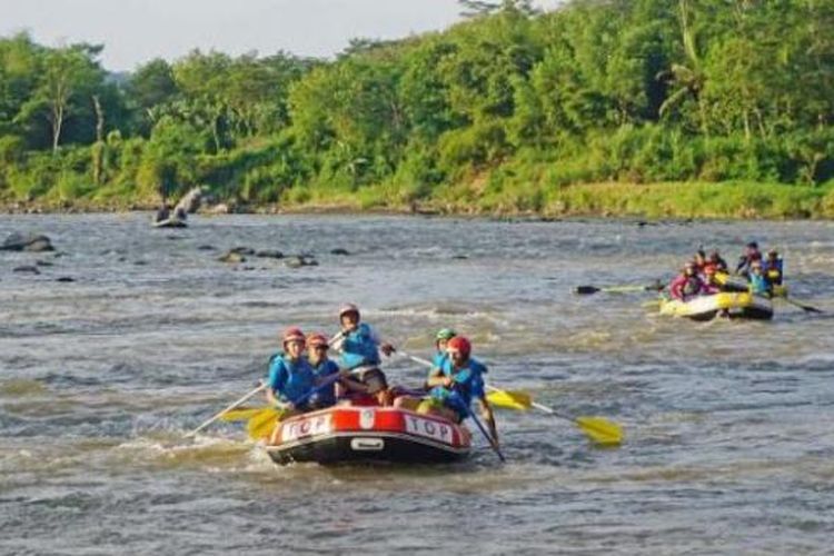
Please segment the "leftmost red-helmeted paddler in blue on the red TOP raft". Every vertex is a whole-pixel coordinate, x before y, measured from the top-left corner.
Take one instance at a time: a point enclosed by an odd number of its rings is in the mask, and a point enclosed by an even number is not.
[[[304,413],[309,410],[309,399],[305,396],[316,387],[316,375],[304,357],[305,336],[299,328],[292,327],[284,332],[281,340],[284,351],[269,360],[267,401],[286,406],[290,414]]]

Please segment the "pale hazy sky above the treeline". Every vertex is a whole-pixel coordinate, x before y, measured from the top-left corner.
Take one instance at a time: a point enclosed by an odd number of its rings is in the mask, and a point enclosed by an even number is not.
[[[553,9],[559,0],[538,0]],[[110,71],[195,48],[330,57],[351,38],[397,39],[460,20],[457,0],[0,0],[0,37],[105,44]]]

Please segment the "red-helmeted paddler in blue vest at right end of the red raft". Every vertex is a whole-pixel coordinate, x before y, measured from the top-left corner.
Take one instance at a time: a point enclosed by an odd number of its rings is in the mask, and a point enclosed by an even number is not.
[[[455,336],[446,346],[447,357],[443,361],[443,376],[429,379],[429,400],[418,407],[420,413],[437,413],[460,423],[468,417],[473,401],[480,405],[480,414],[489,427],[489,434],[498,446],[498,429],[493,408],[486,398],[484,375],[486,366],[471,357],[471,344],[463,336]]]

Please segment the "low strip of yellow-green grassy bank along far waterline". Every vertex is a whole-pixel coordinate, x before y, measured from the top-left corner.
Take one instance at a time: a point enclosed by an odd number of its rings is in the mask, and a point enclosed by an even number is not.
[[[389,214],[420,216],[469,216],[496,218],[616,217],[662,219],[834,219],[834,186],[810,187],[774,183],[671,182],[587,183],[538,188],[532,195],[513,197],[478,195],[473,183],[447,188],[443,196],[397,202],[376,195],[374,187],[361,196],[334,193],[328,201],[235,205],[220,201],[231,214]],[[152,202],[98,201],[82,198],[60,201],[0,201],[2,214],[126,212],[156,210]],[[210,207],[209,207],[210,209]],[[210,214],[210,210],[209,210]],[[220,212],[224,214],[224,212]]]

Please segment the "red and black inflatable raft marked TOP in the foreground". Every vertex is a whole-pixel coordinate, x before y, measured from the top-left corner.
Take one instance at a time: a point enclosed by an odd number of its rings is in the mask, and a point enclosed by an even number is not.
[[[278,425],[267,451],[276,464],[444,463],[469,455],[471,435],[455,423],[394,407],[335,406]]]

